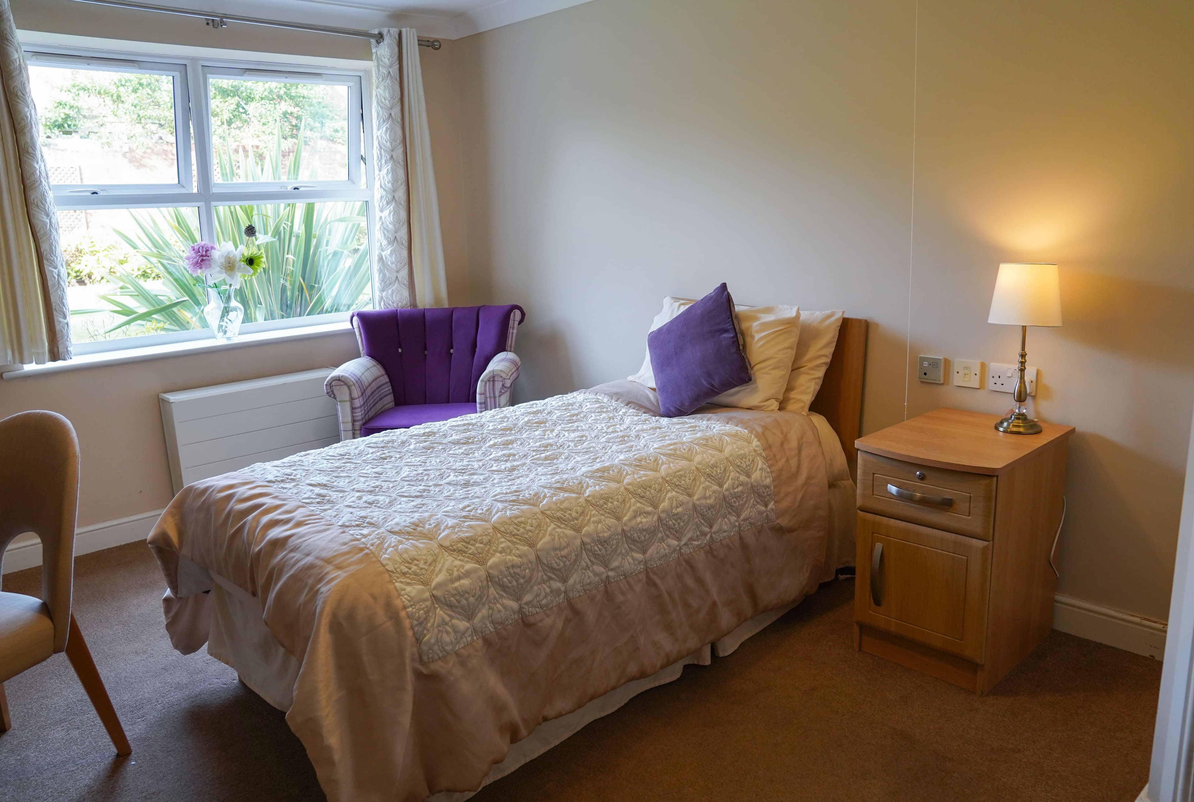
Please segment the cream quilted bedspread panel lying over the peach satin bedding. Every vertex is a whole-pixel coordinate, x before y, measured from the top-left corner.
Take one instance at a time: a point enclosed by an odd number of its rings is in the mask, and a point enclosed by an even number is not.
[[[376,555],[424,662],[775,520],[771,471],[749,432],[712,417],[657,418],[587,393],[241,473]]]

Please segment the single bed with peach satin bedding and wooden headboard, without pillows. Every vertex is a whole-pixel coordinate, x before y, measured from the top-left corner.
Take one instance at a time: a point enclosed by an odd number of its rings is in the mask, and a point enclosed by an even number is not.
[[[149,537],[171,640],[333,802],[467,798],[851,565],[866,328],[808,415],[613,382],[190,485]]]

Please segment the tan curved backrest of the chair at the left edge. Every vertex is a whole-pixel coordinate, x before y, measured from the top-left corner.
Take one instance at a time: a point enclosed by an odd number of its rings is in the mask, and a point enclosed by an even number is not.
[[[79,440],[56,412],[0,420],[0,561],[13,538],[42,541],[42,600],[54,622],[54,650],[67,646],[74,529],[79,505]]]

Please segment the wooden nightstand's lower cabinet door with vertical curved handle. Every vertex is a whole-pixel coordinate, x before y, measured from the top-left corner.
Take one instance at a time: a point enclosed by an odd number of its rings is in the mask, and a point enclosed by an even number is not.
[[[991,543],[858,513],[855,619],[983,662]]]

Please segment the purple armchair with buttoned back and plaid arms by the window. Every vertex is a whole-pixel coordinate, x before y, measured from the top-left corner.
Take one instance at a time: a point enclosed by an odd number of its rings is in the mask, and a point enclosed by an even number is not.
[[[515,304],[353,313],[361,358],[324,384],[336,399],[340,439],[509,407],[524,317]]]

